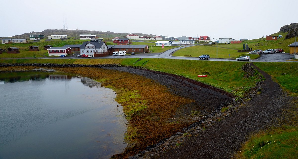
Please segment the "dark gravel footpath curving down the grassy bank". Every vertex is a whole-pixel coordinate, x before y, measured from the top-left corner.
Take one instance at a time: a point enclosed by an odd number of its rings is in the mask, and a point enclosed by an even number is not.
[[[161,154],[161,158],[232,158],[251,133],[276,124],[274,119],[281,114],[281,109],[285,108],[290,97],[271,80],[270,75],[255,68],[266,78],[260,95],[256,95],[232,116],[216,122],[198,136],[188,138],[181,146]]]

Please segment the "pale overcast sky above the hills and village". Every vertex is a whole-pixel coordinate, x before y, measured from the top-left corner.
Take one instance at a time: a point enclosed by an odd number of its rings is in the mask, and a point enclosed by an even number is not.
[[[297,22],[297,0],[0,1],[0,37],[62,29],[257,39]],[[296,14],[295,14],[296,13]]]

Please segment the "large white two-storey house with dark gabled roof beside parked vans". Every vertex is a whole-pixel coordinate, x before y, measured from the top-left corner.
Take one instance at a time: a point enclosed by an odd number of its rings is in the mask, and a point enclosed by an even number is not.
[[[80,46],[80,52],[81,54],[85,55],[94,55],[94,54],[100,54],[104,52],[108,52],[108,47],[105,44],[105,42],[84,42]]]

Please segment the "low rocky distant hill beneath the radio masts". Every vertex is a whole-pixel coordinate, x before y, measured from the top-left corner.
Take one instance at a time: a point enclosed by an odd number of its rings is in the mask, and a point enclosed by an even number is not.
[[[120,37],[123,38],[126,35],[129,34],[136,34],[139,36],[149,36],[154,37],[156,35],[153,34],[141,34],[141,33],[114,33],[114,32],[100,32],[100,31],[89,31],[89,30],[58,30],[58,29],[46,29],[42,32],[31,32],[31,33],[25,33],[21,35],[14,35],[12,38],[27,38],[29,40],[29,34],[41,34],[44,35],[45,38],[51,35],[67,35],[71,38],[77,38],[80,39],[80,34],[93,34],[98,36],[99,38],[105,38],[105,40],[111,40],[113,37]],[[5,37],[2,37],[5,38]]]

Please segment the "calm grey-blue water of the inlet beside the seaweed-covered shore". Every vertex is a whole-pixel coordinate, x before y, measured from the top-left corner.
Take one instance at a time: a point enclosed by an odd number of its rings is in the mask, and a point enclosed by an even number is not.
[[[89,78],[0,73],[0,159],[109,158],[126,147],[111,89]]]

